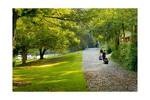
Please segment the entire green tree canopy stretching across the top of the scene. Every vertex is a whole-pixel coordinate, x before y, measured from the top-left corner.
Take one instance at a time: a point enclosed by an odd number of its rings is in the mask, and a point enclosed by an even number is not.
[[[13,49],[23,63],[28,50],[63,53],[94,47],[96,41],[118,49],[126,32],[136,43],[137,9],[13,9]]]

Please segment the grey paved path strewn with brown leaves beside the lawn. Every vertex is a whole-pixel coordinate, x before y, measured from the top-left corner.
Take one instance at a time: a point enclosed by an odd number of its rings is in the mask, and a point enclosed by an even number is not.
[[[109,64],[103,64],[98,57],[98,48],[89,48],[83,51],[83,70],[89,91],[137,90],[135,72],[124,70],[112,61],[109,61]]]

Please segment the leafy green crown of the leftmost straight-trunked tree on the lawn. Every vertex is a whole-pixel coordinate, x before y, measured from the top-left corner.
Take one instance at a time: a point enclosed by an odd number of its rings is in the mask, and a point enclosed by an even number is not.
[[[16,48],[25,46],[29,48],[32,46],[34,40],[34,32],[32,31],[33,24],[30,23],[30,19],[23,17],[18,20],[16,28]]]

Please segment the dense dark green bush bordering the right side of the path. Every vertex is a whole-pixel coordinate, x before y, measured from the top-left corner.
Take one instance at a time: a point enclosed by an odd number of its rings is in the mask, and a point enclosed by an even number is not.
[[[137,46],[136,44],[125,43],[119,46],[118,50],[113,51],[111,56],[125,68],[137,71]]]

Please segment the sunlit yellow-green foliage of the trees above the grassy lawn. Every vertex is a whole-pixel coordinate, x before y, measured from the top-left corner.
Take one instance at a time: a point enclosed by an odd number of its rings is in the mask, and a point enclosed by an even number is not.
[[[14,11],[18,14],[13,41],[14,51],[27,54],[30,49],[42,48],[57,53],[72,48],[77,50],[80,43],[75,33],[78,25],[68,16],[73,10],[14,9]]]

